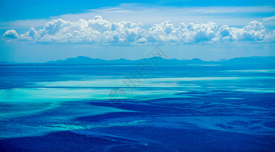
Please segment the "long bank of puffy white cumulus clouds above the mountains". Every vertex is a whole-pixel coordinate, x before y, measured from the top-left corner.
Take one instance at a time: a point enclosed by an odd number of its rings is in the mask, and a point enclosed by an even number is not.
[[[43,29],[34,27],[18,35],[14,29],[7,30],[4,36],[37,43],[129,43],[148,44],[161,42],[198,43],[217,41],[262,41],[265,27],[261,22],[252,21],[243,28],[223,25],[220,28],[216,23],[205,24],[180,23],[175,27],[170,21],[154,24],[148,29],[142,28],[142,23],[109,22],[101,16],[92,20],[80,19],[77,22],[54,19],[48,22]],[[268,33],[274,37],[274,33]]]

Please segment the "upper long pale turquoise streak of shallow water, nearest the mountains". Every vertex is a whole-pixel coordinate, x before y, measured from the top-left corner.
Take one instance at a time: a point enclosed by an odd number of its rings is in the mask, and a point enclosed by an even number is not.
[[[182,78],[150,78],[139,79],[136,87],[181,87],[191,85],[181,85],[178,82],[186,81],[221,81],[221,80],[243,80],[243,79],[275,79],[275,77],[182,77]],[[34,83],[34,87],[127,87],[122,79],[94,79],[85,81],[58,81]]]

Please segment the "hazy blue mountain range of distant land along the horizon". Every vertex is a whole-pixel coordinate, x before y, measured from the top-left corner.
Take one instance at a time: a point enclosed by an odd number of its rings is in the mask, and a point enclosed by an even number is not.
[[[251,57],[240,57],[232,59],[221,59],[217,61],[203,61],[198,58],[192,60],[187,59],[164,59],[161,57],[144,58],[149,61],[148,64],[157,61],[160,65],[171,65],[171,64],[274,64],[275,56],[251,56]],[[67,58],[66,60],[48,61],[45,63],[16,63],[16,62],[5,62],[1,61],[0,66],[77,66],[77,65],[138,65],[142,60],[103,60],[93,59],[85,56],[78,56],[75,58]]]

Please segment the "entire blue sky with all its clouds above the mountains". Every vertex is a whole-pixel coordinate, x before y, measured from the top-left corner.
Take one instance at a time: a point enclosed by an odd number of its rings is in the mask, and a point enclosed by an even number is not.
[[[275,1],[0,1],[0,61],[275,56]]]

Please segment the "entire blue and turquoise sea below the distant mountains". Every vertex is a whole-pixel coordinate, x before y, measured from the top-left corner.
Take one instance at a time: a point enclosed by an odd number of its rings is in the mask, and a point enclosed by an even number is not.
[[[135,69],[0,67],[0,151],[275,149],[274,65]]]

